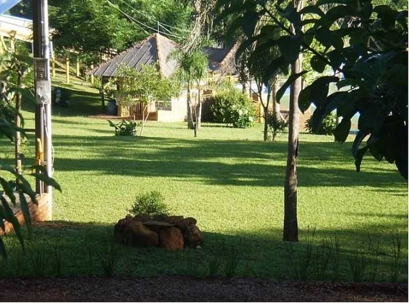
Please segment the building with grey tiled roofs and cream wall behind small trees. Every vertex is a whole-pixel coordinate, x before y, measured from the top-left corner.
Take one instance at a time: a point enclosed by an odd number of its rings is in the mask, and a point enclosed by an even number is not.
[[[133,47],[119,53],[115,57],[102,62],[96,68],[87,72],[88,75],[101,77],[102,83],[115,77],[119,66],[127,66],[141,71],[144,66],[156,64],[163,77],[170,77],[177,70],[177,61],[170,54],[177,50],[179,45],[167,37],[155,33],[138,42]],[[235,74],[235,53],[237,48],[219,49],[204,48],[209,60],[209,77],[220,77]],[[202,93],[203,95],[203,93]],[[206,93],[205,93],[206,95]],[[182,91],[180,96],[171,100],[157,101],[148,107],[149,120],[161,122],[183,121],[187,116],[187,95]],[[124,106],[117,105],[117,115],[142,116],[142,105]]]

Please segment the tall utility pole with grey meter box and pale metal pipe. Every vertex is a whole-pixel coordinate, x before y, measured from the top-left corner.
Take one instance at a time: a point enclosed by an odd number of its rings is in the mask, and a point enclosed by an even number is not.
[[[36,157],[40,165],[46,165],[51,178],[52,138],[51,138],[51,77],[50,77],[50,41],[48,23],[48,0],[33,1],[33,53],[35,75],[35,137]],[[46,220],[52,218],[52,187],[44,186],[36,180],[36,193],[47,193],[49,209]]]

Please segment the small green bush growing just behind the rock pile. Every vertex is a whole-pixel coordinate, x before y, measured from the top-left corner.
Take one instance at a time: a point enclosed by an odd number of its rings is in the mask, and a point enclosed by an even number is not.
[[[149,215],[168,214],[169,208],[164,201],[165,198],[157,190],[141,193],[137,196],[129,212],[134,215],[140,213]]]

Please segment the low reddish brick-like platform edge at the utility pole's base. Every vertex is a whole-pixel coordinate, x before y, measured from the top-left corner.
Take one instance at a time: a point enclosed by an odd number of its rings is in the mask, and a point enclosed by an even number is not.
[[[26,197],[27,201],[30,200],[30,198]],[[35,205],[32,202],[29,202],[29,210],[30,210],[30,215],[31,215],[31,220],[32,221],[38,221],[38,222],[43,222],[43,221],[49,221],[51,220],[51,204],[49,202],[49,197],[47,193],[44,193],[41,197],[37,196],[37,202],[38,205]],[[18,220],[18,223],[20,225],[23,225],[25,223],[24,220],[24,215],[22,214],[22,211],[20,207],[18,206],[18,202],[16,203],[16,206],[10,205],[10,207],[14,211],[14,215]],[[3,229],[0,228],[0,236],[3,236],[5,233],[9,233],[10,231],[13,230],[13,225],[7,221],[5,221],[5,227],[6,231],[4,232]]]

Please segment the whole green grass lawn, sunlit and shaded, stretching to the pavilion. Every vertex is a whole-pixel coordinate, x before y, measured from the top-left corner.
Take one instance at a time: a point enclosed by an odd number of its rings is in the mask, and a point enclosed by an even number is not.
[[[98,92],[85,85],[73,84],[71,89],[71,108],[55,108],[53,115],[54,178],[63,188],[54,194],[58,222],[38,226],[34,233],[34,242],[43,244],[49,258],[46,274],[53,274],[55,247],[63,255],[63,274],[101,274],[113,225],[127,214],[138,193],[156,189],[174,214],[197,219],[205,232],[202,249],[118,247],[118,274],[206,276],[209,264],[216,264],[222,254],[220,247],[228,246],[239,252],[237,276],[293,278],[290,247],[281,241],[287,134],[265,143],[261,125],[234,129],[205,123],[194,138],[185,123],[152,122],[144,137],[116,137],[105,120],[86,117],[101,112]],[[32,127],[30,106],[25,116],[26,126]],[[29,139],[26,157],[31,164],[34,145]],[[300,136],[296,258],[306,249],[308,228],[315,228],[313,254],[325,239],[339,239],[339,279],[352,279],[348,258],[361,251],[367,256],[379,243],[377,257],[368,256],[363,279],[390,280],[393,239],[400,234],[398,279],[407,281],[407,183],[394,165],[369,156],[358,174],[352,139],[340,145],[329,136]],[[13,146],[1,142],[0,163],[12,163]],[[36,274],[30,258],[25,267],[18,265],[20,248],[13,235],[6,244],[10,259],[3,273]],[[335,255],[332,251],[325,277],[311,273],[308,279],[334,278]],[[222,267],[218,273],[223,274]]]

